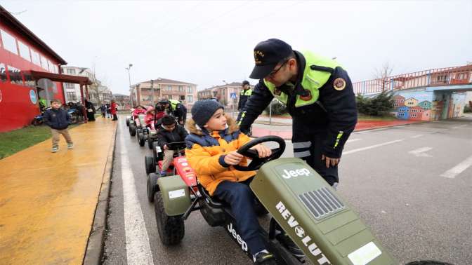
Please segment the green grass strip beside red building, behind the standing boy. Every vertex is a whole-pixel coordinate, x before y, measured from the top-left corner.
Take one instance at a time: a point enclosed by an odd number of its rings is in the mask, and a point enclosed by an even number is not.
[[[74,128],[77,124],[69,126]],[[61,136],[62,137],[62,136]],[[46,125],[28,126],[10,132],[0,132],[0,159],[51,138],[51,129]]]

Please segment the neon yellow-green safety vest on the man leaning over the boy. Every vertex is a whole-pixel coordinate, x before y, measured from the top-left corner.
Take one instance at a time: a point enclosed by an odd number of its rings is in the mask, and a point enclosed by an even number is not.
[[[301,54],[303,57],[305,57],[306,61],[303,78],[301,80],[301,86],[310,92],[311,97],[303,98],[301,95],[296,95],[295,107],[313,104],[318,100],[318,97],[320,97],[320,92],[318,89],[325,85],[329,79],[329,76],[332,74],[327,71],[322,71],[322,68],[327,67],[326,69],[334,69],[340,66],[338,62],[334,60],[316,55],[315,53],[311,53],[309,51],[304,51]],[[313,67],[312,69],[311,66],[316,67]],[[289,98],[287,94],[283,92],[275,93],[275,85],[269,81],[266,81],[265,79],[264,84],[267,86],[267,88],[269,88],[270,93],[272,93],[272,95],[274,95],[277,100],[280,100],[280,102],[287,105],[287,100]]]

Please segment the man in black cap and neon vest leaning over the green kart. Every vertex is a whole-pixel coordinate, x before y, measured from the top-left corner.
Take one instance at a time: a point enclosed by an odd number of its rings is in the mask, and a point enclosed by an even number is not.
[[[248,132],[276,97],[287,105],[293,118],[294,156],[305,160],[336,188],[343,146],[358,119],[348,73],[334,60],[292,50],[280,39],[258,43],[254,60],[250,77],[259,83],[242,114],[242,132]]]

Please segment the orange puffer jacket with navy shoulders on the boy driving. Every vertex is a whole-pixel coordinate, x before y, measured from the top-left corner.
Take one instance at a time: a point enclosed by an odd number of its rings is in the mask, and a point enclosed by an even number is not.
[[[197,173],[197,178],[212,196],[216,186],[224,180],[230,182],[243,182],[256,175],[255,171],[238,171],[224,162],[224,155],[230,151],[236,151],[251,139],[240,132],[235,121],[230,117],[228,128],[220,132],[203,132],[198,129],[195,122],[188,122],[190,135],[185,138],[188,149],[185,156],[188,163]],[[240,165],[247,165],[247,159],[243,158]]]

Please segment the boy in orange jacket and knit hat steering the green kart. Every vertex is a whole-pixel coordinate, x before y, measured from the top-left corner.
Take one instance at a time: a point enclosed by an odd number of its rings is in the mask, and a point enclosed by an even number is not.
[[[211,196],[230,204],[240,236],[247,243],[256,264],[276,264],[266,249],[254,211],[254,193],[249,183],[254,171],[237,171],[231,165],[246,165],[247,160],[237,149],[249,142],[235,121],[226,116],[223,106],[214,100],[199,100],[192,107],[192,119],[185,138],[185,156],[197,173],[200,184]],[[270,156],[262,144],[253,147],[259,157]]]

